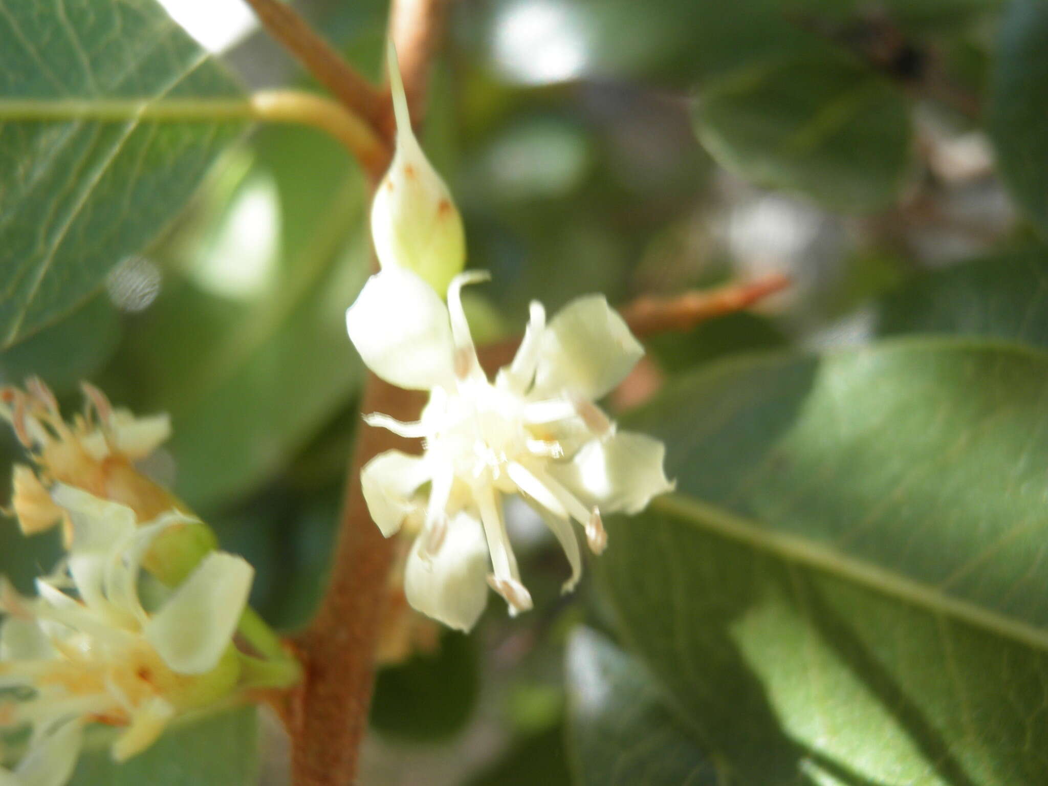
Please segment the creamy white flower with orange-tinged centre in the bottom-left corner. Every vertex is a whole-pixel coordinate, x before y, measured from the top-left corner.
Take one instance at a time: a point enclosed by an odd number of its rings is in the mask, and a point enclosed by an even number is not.
[[[212,552],[147,610],[140,562],[157,534],[187,518],[139,526],[130,508],[81,489],[57,484],[52,497],[72,525],[67,558],[37,580],[35,598],[0,584],[0,689],[22,689],[0,700],[0,727],[32,729],[15,769],[0,768],[0,786],[64,784],[92,721],[124,727],[112,746],[123,761],[239,678],[232,639],[254,574],[246,562]]]

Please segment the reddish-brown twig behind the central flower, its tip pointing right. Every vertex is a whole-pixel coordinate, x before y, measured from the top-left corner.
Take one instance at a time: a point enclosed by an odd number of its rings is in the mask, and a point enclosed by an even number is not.
[[[630,330],[641,339],[654,333],[683,331],[715,316],[741,311],[789,286],[782,274],[771,274],[744,284],[728,284],[717,289],[700,289],[668,298],[642,296],[627,303],[619,312]],[[520,336],[488,344],[479,350],[480,365],[494,374],[512,362]]]

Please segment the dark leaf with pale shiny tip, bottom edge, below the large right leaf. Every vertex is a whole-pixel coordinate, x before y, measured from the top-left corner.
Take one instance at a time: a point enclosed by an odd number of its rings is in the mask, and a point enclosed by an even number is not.
[[[582,786],[718,786],[716,767],[643,664],[595,631],[568,643],[569,747]]]

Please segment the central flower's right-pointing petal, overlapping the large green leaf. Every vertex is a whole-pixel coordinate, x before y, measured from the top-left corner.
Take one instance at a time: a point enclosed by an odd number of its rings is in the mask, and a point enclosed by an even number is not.
[[[647,434],[619,432],[583,446],[566,464],[551,464],[550,475],[606,512],[633,515],[652,497],[674,489],[662,467],[665,445]]]

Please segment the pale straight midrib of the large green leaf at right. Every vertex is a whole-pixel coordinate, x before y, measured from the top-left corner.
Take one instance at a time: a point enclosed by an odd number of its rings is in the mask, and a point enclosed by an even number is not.
[[[952,617],[995,635],[1048,651],[1048,630],[954,597],[879,565],[842,554],[810,539],[761,526],[717,505],[680,494],[670,494],[653,500],[651,509],[684,520],[700,529],[772,554],[787,563],[851,582],[934,614]]]

